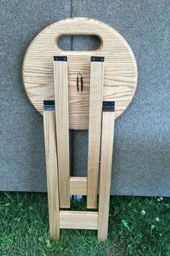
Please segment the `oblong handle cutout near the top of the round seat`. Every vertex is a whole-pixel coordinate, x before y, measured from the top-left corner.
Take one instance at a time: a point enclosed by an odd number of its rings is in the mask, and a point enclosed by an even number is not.
[[[101,40],[97,35],[62,35],[57,44],[63,51],[96,51]]]

